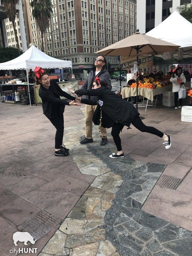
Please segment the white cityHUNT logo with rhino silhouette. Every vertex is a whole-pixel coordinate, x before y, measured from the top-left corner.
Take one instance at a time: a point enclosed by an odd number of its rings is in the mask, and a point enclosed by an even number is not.
[[[28,245],[28,242],[30,242],[31,244],[35,244],[36,240],[37,239],[34,240],[34,237],[31,236],[28,232],[17,231],[13,234],[13,243],[15,246],[18,246],[17,242],[24,242],[24,245]],[[17,255],[18,253],[37,253],[37,248],[13,248],[9,252],[14,253],[15,255]]]

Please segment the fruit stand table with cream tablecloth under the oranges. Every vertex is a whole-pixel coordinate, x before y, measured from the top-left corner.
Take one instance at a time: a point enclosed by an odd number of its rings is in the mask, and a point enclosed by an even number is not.
[[[149,104],[148,104],[149,100],[151,102],[153,102],[155,95],[159,95],[159,94],[162,94],[162,93],[164,93],[166,91],[170,91],[170,90],[172,90],[171,84],[163,86],[163,87],[155,88],[155,89],[138,88],[138,95],[141,95],[141,96],[147,98],[146,105],[142,104],[140,106],[146,107],[146,109],[147,109],[147,106],[149,106]],[[129,98],[131,96],[136,96],[136,94],[137,94],[137,88],[124,87],[121,91],[121,95],[122,95],[123,99]],[[153,106],[153,105],[150,105],[150,106]],[[145,109],[145,111],[146,111],[146,109]]]

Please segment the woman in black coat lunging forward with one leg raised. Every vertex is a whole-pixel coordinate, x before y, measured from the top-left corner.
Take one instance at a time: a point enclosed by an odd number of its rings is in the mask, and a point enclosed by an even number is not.
[[[165,148],[168,149],[171,146],[171,137],[170,135],[164,134],[161,131],[157,130],[154,127],[146,126],[140,119],[139,113],[136,108],[128,101],[125,101],[121,97],[119,97],[114,92],[110,91],[107,88],[107,84],[96,78],[93,82],[92,90],[77,90],[74,91],[68,88],[70,92],[79,94],[79,95],[90,95],[97,96],[97,102],[94,102],[89,99],[81,99],[82,103],[96,105],[97,109],[95,111],[95,115],[93,117],[94,124],[99,124],[103,127],[109,128],[112,127],[111,135],[113,136],[113,140],[117,147],[117,153],[112,153],[109,157],[124,157],[122,147],[121,147],[121,139],[119,137],[120,131],[122,131],[124,126],[130,126],[132,124],[141,132],[148,132],[155,134],[164,140]],[[94,89],[94,90],[93,90]]]

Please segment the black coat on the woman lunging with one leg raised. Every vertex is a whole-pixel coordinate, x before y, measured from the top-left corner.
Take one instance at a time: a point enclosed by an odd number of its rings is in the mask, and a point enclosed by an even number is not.
[[[88,105],[96,105],[96,112],[99,113],[98,108],[102,110],[102,126],[112,127],[114,122],[130,126],[132,120],[139,115],[136,108],[128,101],[122,99],[120,96],[110,91],[107,87],[99,87],[92,90],[77,90],[75,93],[80,95],[97,96],[97,101],[82,99],[81,102]],[[96,119],[93,119],[94,124],[98,124]]]

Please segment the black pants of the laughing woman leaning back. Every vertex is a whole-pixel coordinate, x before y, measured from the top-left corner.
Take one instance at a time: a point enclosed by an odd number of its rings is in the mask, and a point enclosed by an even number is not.
[[[57,129],[55,134],[55,148],[59,149],[63,143],[64,118],[63,113],[57,117],[50,117],[49,120]]]

